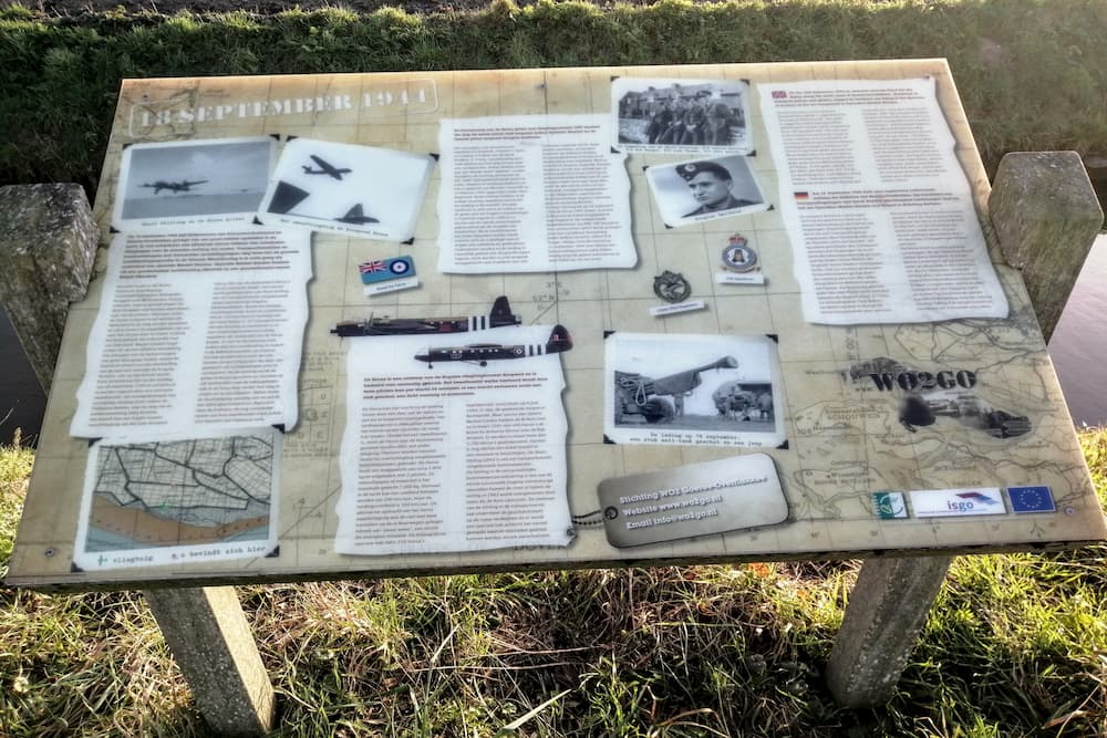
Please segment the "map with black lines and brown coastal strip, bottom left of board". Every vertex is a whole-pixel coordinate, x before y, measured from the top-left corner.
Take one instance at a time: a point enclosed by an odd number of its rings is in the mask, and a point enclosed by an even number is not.
[[[265,555],[279,435],[100,444],[85,482],[82,568]],[[90,499],[91,498],[91,499]]]

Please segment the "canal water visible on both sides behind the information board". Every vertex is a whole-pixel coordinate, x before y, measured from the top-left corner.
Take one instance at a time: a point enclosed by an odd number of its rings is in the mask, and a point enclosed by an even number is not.
[[[1049,342],[1061,388],[1077,426],[1107,425],[1107,236],[1096,239]],[[0,311],[0,444],[15,428],[38,436],[45,396]],[[11,415],[4,419],[9,410]]]

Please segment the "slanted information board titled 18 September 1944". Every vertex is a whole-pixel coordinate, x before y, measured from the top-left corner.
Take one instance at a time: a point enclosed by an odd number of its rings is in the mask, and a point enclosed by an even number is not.
[[[130,80],[8,581],[1066,547],[942,60]]]

